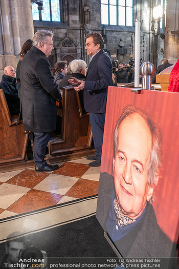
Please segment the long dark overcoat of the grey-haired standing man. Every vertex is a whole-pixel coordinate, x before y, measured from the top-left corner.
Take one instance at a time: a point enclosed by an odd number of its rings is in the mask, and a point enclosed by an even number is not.
[[[23,126],[34,132],[56,129],[56,101],[61,94],[46,55],[31,47],[20,67]]]

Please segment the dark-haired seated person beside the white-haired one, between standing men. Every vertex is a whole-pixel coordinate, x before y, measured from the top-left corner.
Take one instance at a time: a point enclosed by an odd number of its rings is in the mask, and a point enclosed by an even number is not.
[[[67,61],[66,60],[61,60],[57,61],[55,64],[55,81],[58,84],[58,88],[60,89],[61,87],[61,81],[63,77],[67,73]]]

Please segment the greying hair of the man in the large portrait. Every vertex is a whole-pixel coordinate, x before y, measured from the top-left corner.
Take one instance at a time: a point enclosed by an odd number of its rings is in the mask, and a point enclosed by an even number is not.
[[[158,183],[157,176],[162,167],[162,130],[160,126],[157,123],[155,123],[146,112],[131,105],[124,107],[120,115],[120,118],[117,122],[114,135],[113,135],[113,156],[114,158],[116,158],[117,147],[118,147],[118,132],[119,132],[119,127],[122,121],[129,115],[132,115],[135,113],[138,113],[139,115],[141,115],[141,117],[144,118],[144,120],[146,121],[150,129],[150,133],[152,137],[152,149],[150,153],[147,178],[148,178],[148,184],[151,187],[155,187],[155,185]],[[153,201],[153,196],[150,199],[150,202],[152,201]]]

